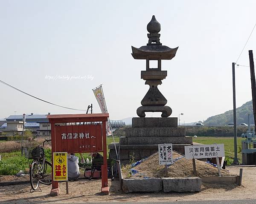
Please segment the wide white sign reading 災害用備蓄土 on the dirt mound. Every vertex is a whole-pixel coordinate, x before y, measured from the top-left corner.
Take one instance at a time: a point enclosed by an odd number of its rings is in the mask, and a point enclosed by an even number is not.
[[[185,146],[186,159],[204,159],[225,156],[224,144]]]

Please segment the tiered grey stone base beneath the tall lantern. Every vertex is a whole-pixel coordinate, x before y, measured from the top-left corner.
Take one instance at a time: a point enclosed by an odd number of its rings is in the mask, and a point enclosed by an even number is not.
[[[116,144],[122,164],[130,159],[144,159],[158,151],[158,144],[172,143],[173,150],[184,154],[184,146],[192,144],[184,127],[177,127],[177,118],[133,118],[132,127],[126,128],[125,137]],[[116,159],[114,144],[109,145],[110,158]]]

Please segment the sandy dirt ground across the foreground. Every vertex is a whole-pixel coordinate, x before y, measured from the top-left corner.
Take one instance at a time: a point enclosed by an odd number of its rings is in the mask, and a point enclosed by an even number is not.
[[[60,196],[50,197],[51,186],[41,184],[42,192],[30,193],[30,184],[0,186],[0,203],[56,203],[70,202],[122,202],[122,201],[188,201],[188,200],[234,200],[252,199],[256,194],[251,189],[256,186],[256,167],[243,167],[242,186],[204,184],[199,193],[122,193],[119,181],[109,181],[110,194],[102,195],[101,180],[85,179],[69,182],[69,195],[66,195],[65,183],[59,184]],[[228,167],[232,174],[239,174],[239,167]]]

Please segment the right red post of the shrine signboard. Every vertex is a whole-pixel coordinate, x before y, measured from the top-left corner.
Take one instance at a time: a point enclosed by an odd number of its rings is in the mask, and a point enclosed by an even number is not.
[[[102,121],[102,138],[103,138],[103,165],[102,165],[102,193],[109,194],[108,188],[108,161],[107,161],[107,138],[106,138],[106,121]]]

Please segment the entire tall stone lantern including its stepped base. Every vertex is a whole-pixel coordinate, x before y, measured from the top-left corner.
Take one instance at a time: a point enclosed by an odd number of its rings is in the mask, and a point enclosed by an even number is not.
[[[133,157],[140,160],[158,151],[158,144],[172,143],[173,150],[184,153],[184,145],[192,143],[192,137],[186,137],[185,127],[177,127],[177,117],[169,117],[172,108],[167,106],[167,99],[161,94],[158,85],[166,78],[167,71],[162,71],[161,60],[175,57],[177,48],[169,48],[160,43],[160,23],[155,16],[147,26],[148,44],[140,48],[132,48],[134,59],[146,60],[146,71],[141,71],[141,79],[149,85],[149,90],[137,108],[139,117],[132,119],[132,127],[126,128],[125,137],[120,137],[116,144],[119,159],[128,163]],[[157,60],[157,67],[151,67],[150,62]],[[145,118],[145,112],[162,112],[161,117]],[[109,145],[110,158],[116,159],[116,150]]]

